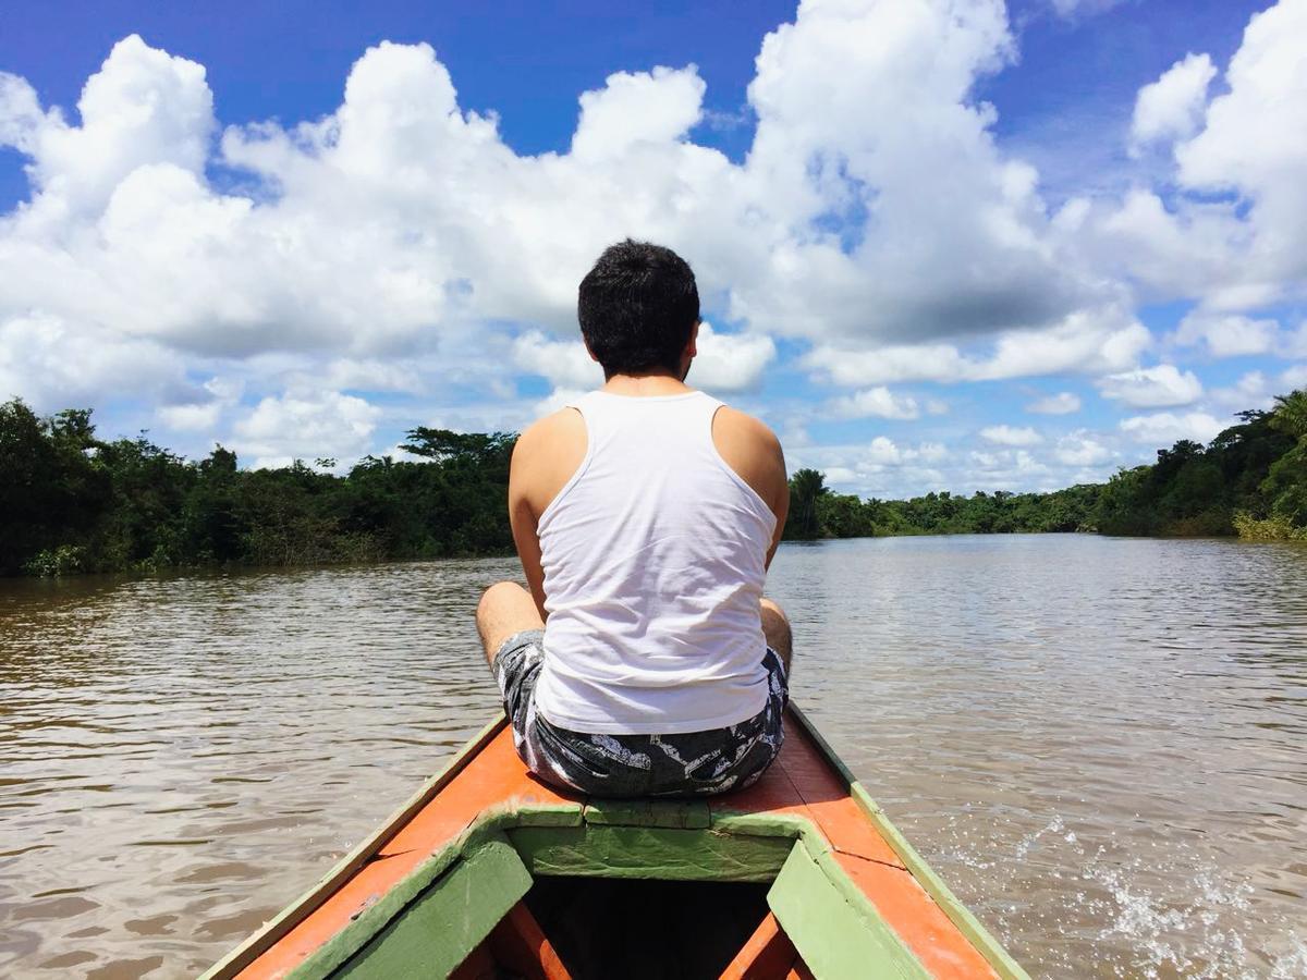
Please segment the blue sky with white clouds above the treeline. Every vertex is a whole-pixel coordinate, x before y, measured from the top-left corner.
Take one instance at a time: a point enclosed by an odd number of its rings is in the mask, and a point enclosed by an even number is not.
[[[791,470],[1057,489],[1307,387],[1304,172],[1307,0],[18,3],[0,400],[250,466],[516,431],[633,237]]]

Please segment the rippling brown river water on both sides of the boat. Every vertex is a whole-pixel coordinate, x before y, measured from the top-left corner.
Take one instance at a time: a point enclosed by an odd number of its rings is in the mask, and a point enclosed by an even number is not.
[[[184,976],[495,710],[510,561],[0,583],[0,972]],[[1307,975],[1307,549],[787,545],[795,695],[1033,973]]]

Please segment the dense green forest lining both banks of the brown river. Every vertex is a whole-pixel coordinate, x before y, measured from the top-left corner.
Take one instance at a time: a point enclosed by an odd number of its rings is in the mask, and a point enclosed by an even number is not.
[[[788,538],[1085,531],[1307,540],[1307,392],[1244,412],[1208,446],[1182,440],[1106,483],[1046,494],[836,494],[791,478]],[[345,476],[297,461],[240,469],[221,446],[192,461],[101,440],[91,413],[0,405],[0,575],[288,566],[508,554],[516,436],[413,429],[421,461],[367,456]]]

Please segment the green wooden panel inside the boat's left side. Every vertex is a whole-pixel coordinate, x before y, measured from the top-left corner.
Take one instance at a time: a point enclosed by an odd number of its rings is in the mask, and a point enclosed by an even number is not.
[[[409,903],[333,976],[447,976],[529,889],[531,875],[518,852],[507,841],[491,840]],[[297,977],[302,973],[295,971]]]

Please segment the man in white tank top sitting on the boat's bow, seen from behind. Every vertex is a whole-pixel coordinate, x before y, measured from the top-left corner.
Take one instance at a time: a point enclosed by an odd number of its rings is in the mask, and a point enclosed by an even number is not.
[[[605,384],[521,434],[508,515],[529,592],[477,609],[514,741],[600,796],[720,793],[780,749],[789,625],[762,597],[789,506],[767,426],[685,384],[699,294],[626,240],[580,284]]]

